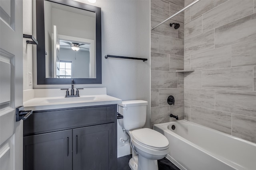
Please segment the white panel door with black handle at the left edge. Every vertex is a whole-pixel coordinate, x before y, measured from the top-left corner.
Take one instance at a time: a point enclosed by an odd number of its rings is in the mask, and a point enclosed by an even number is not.
[[[0,170],[22,170],[22,0],[0,0]]]

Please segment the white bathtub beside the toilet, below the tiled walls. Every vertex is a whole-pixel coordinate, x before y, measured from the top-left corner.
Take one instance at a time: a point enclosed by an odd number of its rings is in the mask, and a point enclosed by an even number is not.
[[[172,130],[175,125],[175,130]],[[186,120],[154,125],[181,170],[256,170],[256,144]]]

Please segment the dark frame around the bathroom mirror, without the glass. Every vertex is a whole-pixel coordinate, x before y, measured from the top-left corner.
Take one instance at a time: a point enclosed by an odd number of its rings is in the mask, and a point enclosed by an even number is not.
[[[36,0],[36,39],[37,51],[37,84],[101,84],[101,8],[73,0],[47,0],[82,10],[95,12],[96,17],[96,78],[46,78],[45,66],[45,38],[44,38],[44,0]]]

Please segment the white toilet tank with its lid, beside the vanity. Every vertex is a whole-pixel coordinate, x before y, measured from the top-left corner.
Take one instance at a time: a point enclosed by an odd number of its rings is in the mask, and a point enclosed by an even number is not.
[[[118,113],[123,119],[118,119],[119,124],[125,130],[141,128],[146,123],[148,102],[144,100],[127,100],[118,104]]]

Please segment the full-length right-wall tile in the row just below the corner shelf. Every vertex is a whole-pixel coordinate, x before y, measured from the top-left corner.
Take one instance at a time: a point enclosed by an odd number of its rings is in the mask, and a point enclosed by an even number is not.
[[[252,66],[202,71],[202,88],[252,91]]]

